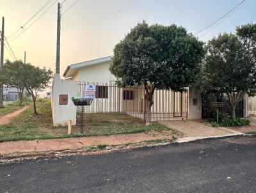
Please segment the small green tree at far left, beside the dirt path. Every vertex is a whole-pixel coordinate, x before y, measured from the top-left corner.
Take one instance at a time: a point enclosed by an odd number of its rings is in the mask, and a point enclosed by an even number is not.
[[[9,61],[7,60],[3,66],[3,70],[0,71],[0,82],[7,87],[15,87],[18,90],[20,106],[23,102],[24,82],[22,77],[24,76],[24,63],[22,61]]]

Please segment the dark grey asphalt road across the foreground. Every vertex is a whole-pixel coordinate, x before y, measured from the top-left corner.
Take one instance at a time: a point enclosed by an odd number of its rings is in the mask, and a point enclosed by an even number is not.
[[[256,192],[256,138],[1,164],[0,192]]]

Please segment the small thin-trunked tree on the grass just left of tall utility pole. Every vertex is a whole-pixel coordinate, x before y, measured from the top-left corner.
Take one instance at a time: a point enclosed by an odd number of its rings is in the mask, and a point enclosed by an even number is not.
[[[36,97],[39,91],[43,91],[48,87],[49,81],[52,78],[52,71],[50,69],[47,70],[45,67],[33,66],[29,63],[25,64],[24,70],[26,71],[26,75],[22,77],[24,86],[29,95],[32,96],[34,113],[38,114],[36,111]]]

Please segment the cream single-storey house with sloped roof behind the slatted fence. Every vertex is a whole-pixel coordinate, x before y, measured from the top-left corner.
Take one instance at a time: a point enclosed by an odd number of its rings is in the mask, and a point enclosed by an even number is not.
[[[145,89],[142,86],[118,88],[115,85],[115,76],[109,72],[111,57],[69,65],[63,77],[65,81],[76,81],[77,96],[82,98],[86,98],[86,85],[95,86],[95,100],[90,107],[86,107],[86,112],[125,112],[145,118],[147,111]],[[196,88],[189,88],[189,92],[157,89],[154,93],[152,120],[200,119],[200,101],[201,96]],[[188,109],[191,113],[188,113]]]

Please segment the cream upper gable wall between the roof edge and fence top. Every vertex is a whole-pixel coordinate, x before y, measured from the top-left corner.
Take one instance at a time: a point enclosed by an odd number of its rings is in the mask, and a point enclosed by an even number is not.
[[[81,68],[73,77],[76,81],[115,82],[115,76],[108,70],[111,61]],[[77,78],[78,77],[78,78]]]

